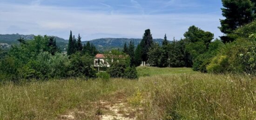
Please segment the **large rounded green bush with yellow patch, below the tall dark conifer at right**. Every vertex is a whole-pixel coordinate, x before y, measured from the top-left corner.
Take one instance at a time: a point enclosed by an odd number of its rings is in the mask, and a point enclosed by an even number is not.
[[[207,67],[213,73],[256,73],[256,42],[245,38],[225,44]]]

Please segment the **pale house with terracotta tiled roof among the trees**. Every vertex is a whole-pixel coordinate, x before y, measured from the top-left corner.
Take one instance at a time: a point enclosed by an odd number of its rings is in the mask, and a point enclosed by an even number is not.
[[[98,71],[106,71],[110,67],[109,63],[105,59],[104,54],[97,54],[94,57],[94,68]]]

